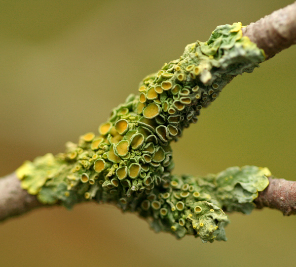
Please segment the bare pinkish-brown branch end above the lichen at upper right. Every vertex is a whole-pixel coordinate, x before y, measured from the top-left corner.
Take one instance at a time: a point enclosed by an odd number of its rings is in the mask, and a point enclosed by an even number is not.
[[[266,60],[273,57],[296,44],[296,2],[251,23],[242,31],[264,50]]]

